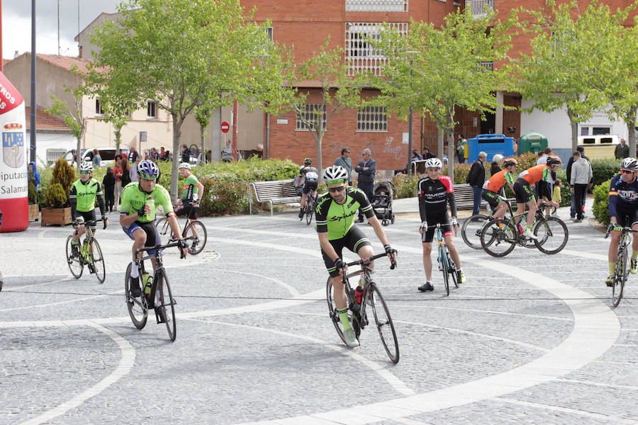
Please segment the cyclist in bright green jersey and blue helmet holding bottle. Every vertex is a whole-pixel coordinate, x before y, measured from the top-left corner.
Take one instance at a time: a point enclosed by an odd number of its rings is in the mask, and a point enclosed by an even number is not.
[[[162,205],[164,212],[169,217],[169,225],[173,234],[180,234],[169,193],[159,184],[155,184],[155,179],[158,176],[157,164],[145,159],[138,164],[139,181],[128,183],[122,192],[120,225],[122,225],[125,234],[128,234],[128,237],[134,241],[133,262],[135,262],[135,249],[162,244],[157,229],[155,229],[155,212],[157,212],[159,205]],[[180,237],[179,250],[182,256],[186,256],[185,249],[186,242]],[[152,249],[147,252],[155,254]],[[153,261],[153,268],[155,268],[155,261]],[[137,267],[130,269],[130,295],[133,297],[142,295]]]

